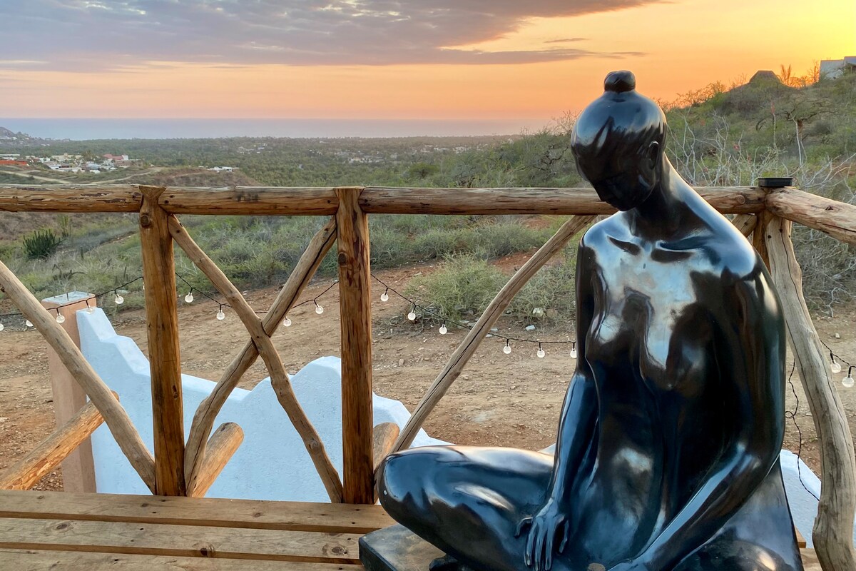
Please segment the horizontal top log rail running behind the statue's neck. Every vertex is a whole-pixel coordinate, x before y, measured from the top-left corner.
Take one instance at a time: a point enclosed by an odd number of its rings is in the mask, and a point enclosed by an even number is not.
[[[746,214],[764,209],[758,187],[698,187],[717,210]],[[167,187],[158,203],[169,214],[244,216],[332,216],[333,187]],[[138,187],[0,186],[0,211],[136,212]],[[365,187],[366,214],[611,214],[615,209],[592,188],[419,188]]]

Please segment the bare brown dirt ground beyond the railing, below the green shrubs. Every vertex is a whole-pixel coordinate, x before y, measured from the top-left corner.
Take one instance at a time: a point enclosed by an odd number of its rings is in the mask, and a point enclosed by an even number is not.
[[[503,260],[513,269],[526,256]],[[401,289],[420,272],[431,271],[430,265],[398,271],[378,272],[377,277],[389,286]],[[329,287],[331,280],[313,282],[304,294],[312,299]],[[409,305],[390,294],[382,302],[383,287],[373,288],[373,371],[374,390],[378,395],[404,402],[408,409],[419,402],[449,355],[463,340],[466,330],[449,327],[449,334],[439,335],[436,327],[421,328],[405,317]],[[257,311],[263,311],[276,296],[276,288],[247,294]],[[280,327],[274,336],[276,348],[289,372],[296,372],[310,360],[323,355],[339,354],[339,308],[337,288],[320,300],[324,313],[318,315],[311,303],[289,314],[291,327]],[[110,303],[108,301],[108,303]],[[236,351],[247,339],[246,331],[235,314],[217,321],[217,306],[197,298],[192,305],[180,301],[181,361],[183,372],[217,380]],[[475,319],[475,318],[473,318]],[[112,318],[119,335],[129,336],[146,352],[146,323],[142,311],[122,312]],[[563,328],[526,331],[526,324],[499,324],[499,335],[539,340],[569,340]],[[820,336],[836,353],[856,362],[856,307],[839,308],[834,318],[816,317]],[[433,437],[453,443],[502,445],[542,449],[555,442],[558,415],[575,360],[568,346],[545,346],[544,359],[536,356],[537,346],[513,345],[511,354],[503,354],[504,341],[485,339],[473,359],[425,423]],[[0,333],[0,469],[25,455],[54,429],[53,406],[46,343],[34,330],[12,330]],[[793,360],[788,355],[788,369]],[[846,369],[845,369],[846,372]],[[252,388],[265,378],[265,367],[259,360],[241,382]],[[844,372],[835,375],[836,380]],[[802,440],[801,456],[819,473],[817,432],[805,401],[799,376],[791,379],[794,392],[788,388],[788,408],[796,414],[788,420],[785,447],[797,452]],[[837,384],[851,430],[856,433],[856,388],[844,389]],[[794,396],[794,393],[796,397]],[[799,407],[797,405],[799,398]],[[39,490],[62,489],[62,474],[49,474],[36,486]]]

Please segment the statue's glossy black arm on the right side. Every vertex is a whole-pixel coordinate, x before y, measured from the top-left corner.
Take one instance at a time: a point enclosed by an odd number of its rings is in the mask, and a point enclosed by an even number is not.
[[[760,264],[760,262],[758,262]],[[639,557],[669,569],[722,528],[776,462],[784,438],[784,324],[770,277],[757,266],[724,292],[716,360],[723,400],[734,403],[734,433],[692,500]]]

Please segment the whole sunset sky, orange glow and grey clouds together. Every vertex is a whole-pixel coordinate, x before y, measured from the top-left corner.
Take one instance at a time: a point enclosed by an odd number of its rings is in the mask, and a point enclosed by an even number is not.
[[[0,116],[549,121],[856,54],[853,0],[27,0]]]

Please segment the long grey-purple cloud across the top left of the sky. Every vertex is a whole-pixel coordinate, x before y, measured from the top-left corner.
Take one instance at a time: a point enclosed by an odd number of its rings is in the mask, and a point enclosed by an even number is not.
[[[389,65],[526,63],[621,54],[456,48],[502,38],[527,18],[659,0],[28,0],[0,19],[0,68],[89,71],[135,63]],[[555,45],[555,47],[554,47]],[[8,62],[15,62],[9,64]]]

